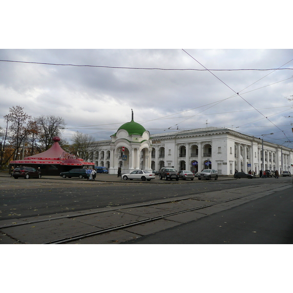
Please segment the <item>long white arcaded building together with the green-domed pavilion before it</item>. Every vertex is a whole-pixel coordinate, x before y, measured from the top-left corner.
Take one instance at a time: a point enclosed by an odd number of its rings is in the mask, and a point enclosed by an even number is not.
[[[140,124],[128,122],[111,136],[111,140],[96,142],[91,162],[105,166],[110,174],[135,169],[175,167],[177,170],[201,171],[217,169],[219,174],[232,175],[235,170],[256,173],[262,169],[292,173],[293,149],[263,141],[230,128],[207,127],[153,134]],[[124,147],[124,151],[123,151]]]

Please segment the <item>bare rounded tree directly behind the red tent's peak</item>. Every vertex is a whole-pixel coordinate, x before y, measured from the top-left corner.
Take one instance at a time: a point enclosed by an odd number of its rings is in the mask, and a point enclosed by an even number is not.
[[[66,123],[63,118],[54,115],[41,115],[35,120],[40,127],[39,141],[43,144],[44,149],[47,150],[53,145],[52,138],[61,136]]]

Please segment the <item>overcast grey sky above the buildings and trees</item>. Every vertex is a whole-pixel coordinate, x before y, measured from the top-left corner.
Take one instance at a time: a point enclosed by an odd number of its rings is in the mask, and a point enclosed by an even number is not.
[[[74,131],[105,140],[133,109],[151,134],[226,126],[293,140],[292,49],[1,49],[0,60],[1,126],[20,105],[33,117],[63,117],[68,141]]]

